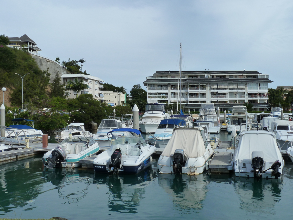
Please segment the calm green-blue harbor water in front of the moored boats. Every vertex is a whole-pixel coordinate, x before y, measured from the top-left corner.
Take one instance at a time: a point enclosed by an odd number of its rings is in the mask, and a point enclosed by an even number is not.
[[[161,175],[158,158],[139,175],[111,176],[94,175],[93,169],[47,170],[41,158],[0,164],[0,218],[292,218],[290,160],[281,179],[256,181],[233,174]]]

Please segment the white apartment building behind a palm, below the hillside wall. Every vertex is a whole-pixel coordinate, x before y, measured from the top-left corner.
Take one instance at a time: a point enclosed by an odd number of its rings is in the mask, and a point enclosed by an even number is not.
[[[94,99],[99,100],[100,102],[104,101],[104,95],[103,95],[103,91],[101,91],[100,89],[104,88],[104,86],[101,84],[105,81],[103,81],[102,79],[95,77],[95,76],[91,76],[91,75],[84,75],[84,74],[63,74],[61,76],[61,80],[62,82],[65,82],[65,84],[67,84],[69,81],[74,82],[74,79],[77,80],[84,80],[84,84],[88,85],[88,89],[84,89],[81,92],[79,92],[78,94],[92,94]],[[68,98],[74,99],[76,98],[76,93],[73,91],[66,91],[66,93],[68,94]]]

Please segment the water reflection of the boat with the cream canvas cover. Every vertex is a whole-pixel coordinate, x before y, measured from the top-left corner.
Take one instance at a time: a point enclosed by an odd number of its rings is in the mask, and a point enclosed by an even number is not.
[[[196,176],[159,174],[159,186],[173,197],[175,209],[184,212],[202,209],[208,183],[209,176],[205,174]]]

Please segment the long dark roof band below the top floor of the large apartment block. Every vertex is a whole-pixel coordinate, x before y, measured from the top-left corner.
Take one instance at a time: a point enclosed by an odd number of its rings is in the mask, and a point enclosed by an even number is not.
[[[190,82],[273,82],[268,78],[189,78],[182,79],[182,83]],[[147,83],[178,83],[178,79],[147,79],[144,81],[144,86]]]

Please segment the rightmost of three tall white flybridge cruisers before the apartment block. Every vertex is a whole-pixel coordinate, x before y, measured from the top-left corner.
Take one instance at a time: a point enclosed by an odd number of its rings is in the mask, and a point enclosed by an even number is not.
[[[236,132],[239,133],[241,123],[250,122],[247,115],[246,106],[233,106],[231,115],[229,116],[230,122],[227,126],[228,134],[232,133],[233,127],[235,127]],[[243,128],[243,131],[246,129]]]

